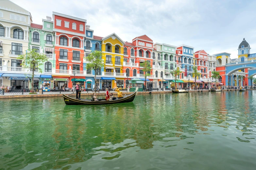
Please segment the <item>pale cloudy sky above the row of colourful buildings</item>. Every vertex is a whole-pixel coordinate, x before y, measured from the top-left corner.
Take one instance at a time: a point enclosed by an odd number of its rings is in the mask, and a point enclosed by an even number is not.
[[[11,0],[42,24],[52,11],[87,20],[94,35],[122,40],[147,35],[154,43],[188,45],[237,58],[243,38],[256,53],[256,1],[238,0]]]

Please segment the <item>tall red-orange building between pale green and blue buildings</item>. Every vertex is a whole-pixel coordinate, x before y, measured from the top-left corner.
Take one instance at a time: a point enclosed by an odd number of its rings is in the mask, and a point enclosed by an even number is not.
[[[54,87],[70,88],[75,82],[84,87],[86,20],[53,12],[53,32],[56,42],[56,69],[53,69],[52,73]]]

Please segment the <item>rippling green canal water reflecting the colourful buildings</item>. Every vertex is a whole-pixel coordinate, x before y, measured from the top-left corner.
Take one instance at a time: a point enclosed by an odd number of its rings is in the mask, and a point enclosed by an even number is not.
[[[0,169],[254,170],[255,104],[256,91],[0,100]]]

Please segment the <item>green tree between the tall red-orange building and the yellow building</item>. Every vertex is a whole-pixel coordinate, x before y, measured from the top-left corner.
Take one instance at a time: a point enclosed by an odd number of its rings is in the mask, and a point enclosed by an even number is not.
[[[95,80],[95,87],[94,90],[96,92],[96,70],[101,69],[101,67],[104,67],[104,61],[101,59],[103,52],[102,51],[93,51],[91,54],[89,54],[87,57],[84,57],[87,59],[88,63],[86,64],[86,70],[94,70],[94,80]]]

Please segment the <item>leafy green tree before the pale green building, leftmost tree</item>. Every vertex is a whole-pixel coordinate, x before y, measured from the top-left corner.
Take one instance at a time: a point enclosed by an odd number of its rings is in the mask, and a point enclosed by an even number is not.
[[[34,91],[35,70],[37,69],[38,72],[42,73],[42,69],[39,68],[39,66],[43,65],[43,63],[45,63],[48,60],[48,58],[46,57],[45,54],[36,52],[36,49],[30,49],[30,50],[28,50],[28,52],[26,54],[19,55],[19,57],[17,59],[23,60],[22,64],[21,64],[23,68],[28,68],[28,69],[30,69],[30,71],[32,71],[31,92],[34,93],[35,92]]]

